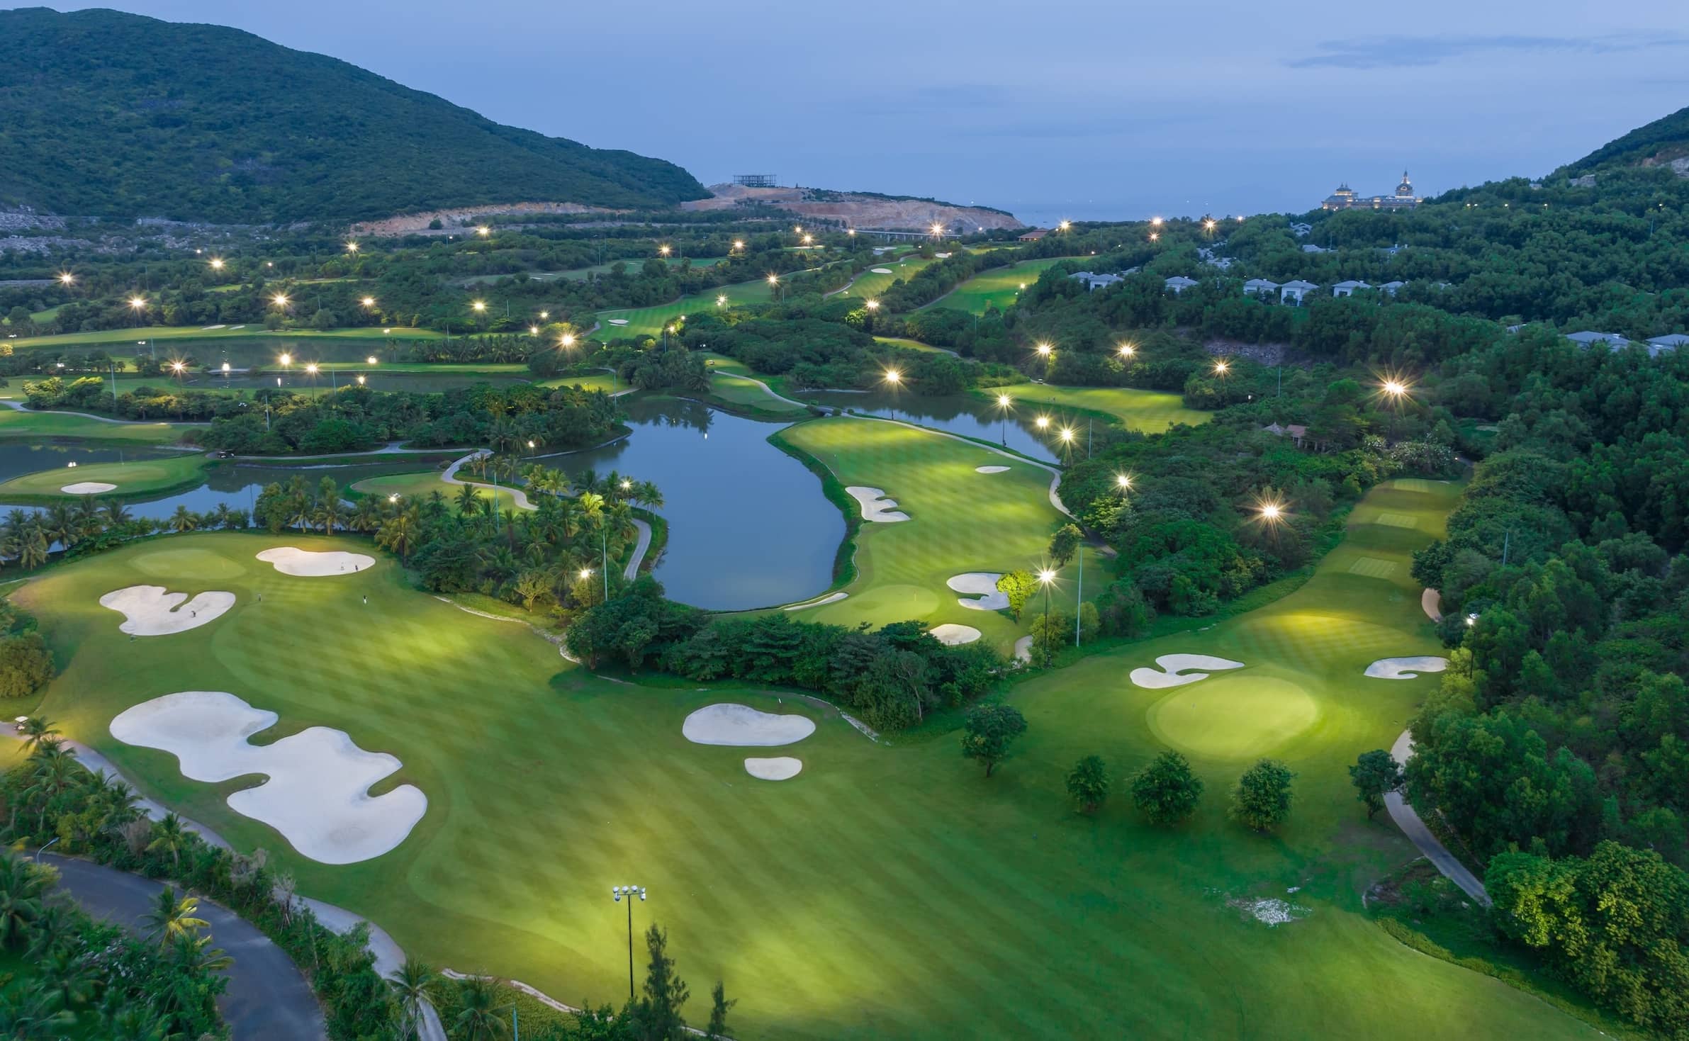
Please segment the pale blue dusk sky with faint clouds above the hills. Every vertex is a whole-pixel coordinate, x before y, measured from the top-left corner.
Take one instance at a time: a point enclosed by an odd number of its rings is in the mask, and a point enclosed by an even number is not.
[[[1307,210],[1404,167],[1422,193],[1542,174],[1689,105],[1682,0],[71,7],[233,25],[706,184],[774,172],[1035,223]]]

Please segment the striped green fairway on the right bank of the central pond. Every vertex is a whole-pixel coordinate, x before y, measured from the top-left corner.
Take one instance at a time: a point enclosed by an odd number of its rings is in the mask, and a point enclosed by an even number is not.
[[[841,485],[882,488],[909,520],[863,522],[856,531],[856,580],[848,598],[797,612],[807,622],[875,627],[919,619],[971,625],[1005,654],[1032,622],[975,610],[946,581],[968,571],[1035,571],[1049,536],[1066,517],[1049,500],[1051,473],[985,446],[877,419],[836,416],[780,433],[819,460]],[[975,466],[1008,466],[978,473]],[[1093,593],[1101,588],[1103,571]],[[1069,564],[1078,573],[1078,568]],[[1069,590],[1073,586],[1069,585]],[[1071,600],[1069,591],[1069,600]],[[1042,603],[1042,600],[1039,600]],[[1071,610],[1071,603],[1069,603]]]

